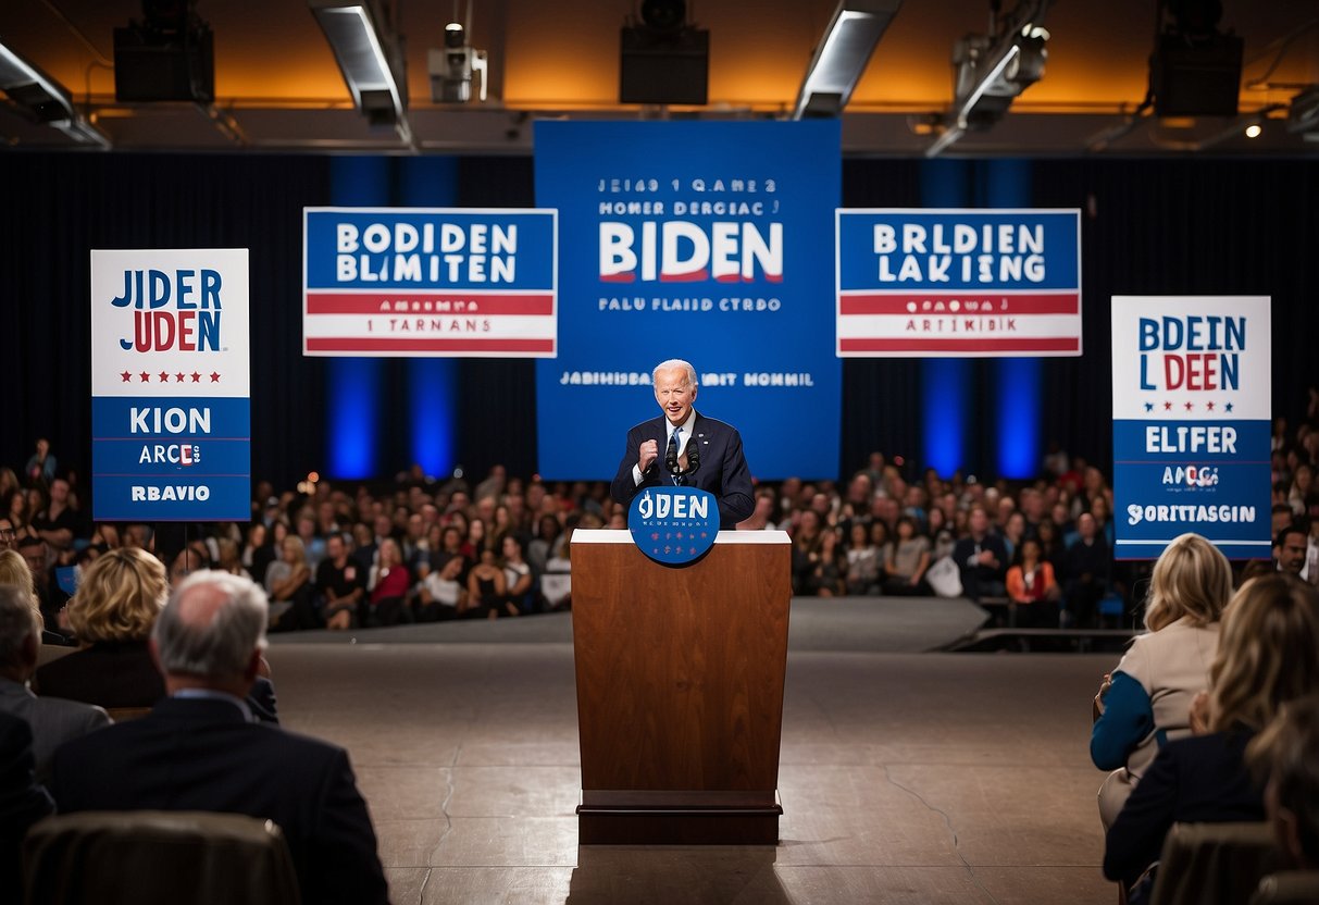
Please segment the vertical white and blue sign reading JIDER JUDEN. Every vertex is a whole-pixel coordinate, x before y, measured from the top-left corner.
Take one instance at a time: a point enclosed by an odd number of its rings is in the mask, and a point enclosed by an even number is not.
[[[252,517],[248,251],[91,253],[92,518]]]

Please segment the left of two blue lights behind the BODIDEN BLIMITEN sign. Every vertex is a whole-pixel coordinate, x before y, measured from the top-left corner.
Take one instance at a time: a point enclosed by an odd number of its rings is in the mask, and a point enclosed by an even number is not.
[[[346,207],[386,204],[389,160],[331,158],[330,195]],[[326,360],[326,462],[332,478],[373,478],[379,471],[381,364],[380,359]]]

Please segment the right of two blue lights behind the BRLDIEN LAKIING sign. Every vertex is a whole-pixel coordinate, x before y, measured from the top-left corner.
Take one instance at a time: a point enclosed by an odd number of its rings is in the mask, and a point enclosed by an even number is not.
[[[985,202],[989,207],[1030,207],[1030,162],[993,160],[985,164]],[[1039,381],[1038,358],[995,361],[995,451],[998,476],[1034,478],[1039,472]]]

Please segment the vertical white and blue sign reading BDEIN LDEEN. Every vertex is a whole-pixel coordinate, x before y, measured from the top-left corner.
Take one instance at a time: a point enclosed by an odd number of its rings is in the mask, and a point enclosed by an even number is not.
[[[1270,555],[1270,380],[1268,298],[1113,297],[1119,559],[1186,532]]]

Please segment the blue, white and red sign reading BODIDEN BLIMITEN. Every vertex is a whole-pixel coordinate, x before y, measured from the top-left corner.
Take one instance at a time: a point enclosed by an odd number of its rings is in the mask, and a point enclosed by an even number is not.
[[[303,355],[555,354],[555,212],[307,207]]]

